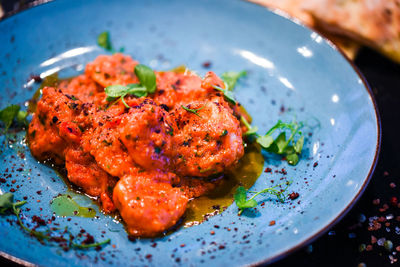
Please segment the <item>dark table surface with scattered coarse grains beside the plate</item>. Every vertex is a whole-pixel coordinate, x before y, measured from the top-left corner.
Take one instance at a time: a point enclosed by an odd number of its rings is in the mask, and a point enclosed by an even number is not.
[[[2,4],[7,13],[29,2],[7,0]],[[382,121],[375,173],[358,203],[336,226],[273,267],[400,266],[400,64],[367,48],[354,63],[373,90]],[[12,265],[0,257],[0,266]]]

